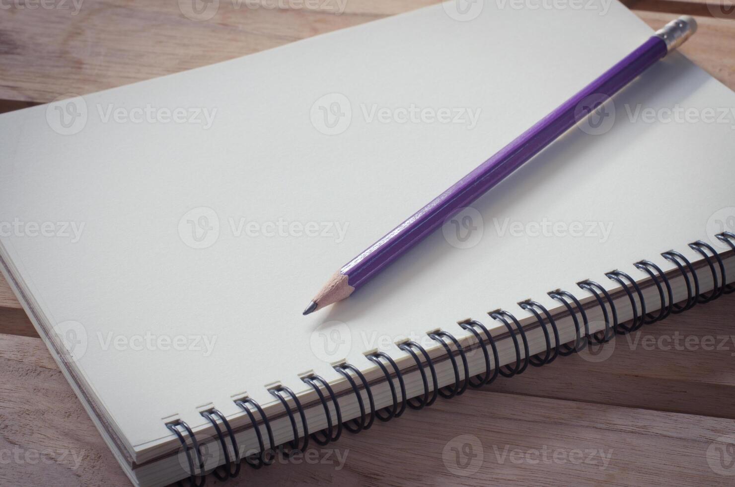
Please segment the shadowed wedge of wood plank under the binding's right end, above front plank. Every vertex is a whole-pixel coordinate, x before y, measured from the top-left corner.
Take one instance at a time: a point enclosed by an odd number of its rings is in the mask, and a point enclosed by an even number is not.
[[[723,296],[491,389],[735,419],[734,308]]]

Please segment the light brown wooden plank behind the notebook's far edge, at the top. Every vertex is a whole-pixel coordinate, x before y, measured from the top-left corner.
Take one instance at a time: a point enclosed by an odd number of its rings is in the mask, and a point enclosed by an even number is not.
[[[244,0],[235,8],[237,2],[221,1],[207,21],[186,18],[175,1],[85,0],[76,15],[68,10],[12,8],[0,16],[0,99],[49,102],[64,93],[91,93],[282,46],[436,1],[350,0],[340,15],[329,8],[337,0],[320,2],[326,5],[321,10],[253,9],[244,7]],[[673,16],[635,11],[656,28]],[[729,55],[735,51],[735,22],[706,17],[698,21],[700,32],[683,51],[735,87],[735,58]]]

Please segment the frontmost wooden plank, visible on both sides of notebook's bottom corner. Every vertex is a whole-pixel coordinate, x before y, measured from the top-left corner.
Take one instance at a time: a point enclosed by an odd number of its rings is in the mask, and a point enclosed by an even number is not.
[[[0,424],[0,485],[127,483],[37,338],[0,335]],[[724,486],[731,477],[710,465],[734,430],[732,419],[467,391],[314,447],[309,462],[243,466],[229,485]]]

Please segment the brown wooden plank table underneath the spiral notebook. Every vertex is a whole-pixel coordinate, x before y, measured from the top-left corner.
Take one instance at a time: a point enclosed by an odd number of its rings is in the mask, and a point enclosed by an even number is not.
[[[215,63],[435,2],[348,0],[334,15],[329,10],[336,1],[318,2],[321,10],[261,1],[264,8],[243,3],[237,9],[237,2],[222,0],[207,21],[185,18],[173,0],[83,0],[78,12],[71,0],[51,1],[51,9],[4,1],[0,6],[11,7],[0,10],[0,111]],[[33,4],[39,7],[27,8]],[[271,5],[281,7],[265,8]],[[628,6],[654,28],[673,14],[696,15],[700,32],[682,51],[735,88],[735,21],[717,0]],[[735,296],[699,305],[618,338],[606,360],[561,358],[343,436],[334,449],[317,449],[298,463],[257,471],[243,466],[229,485],[733,485],[734,310]],[[2,280],[0,388],[0,485],[129,484]],[[218,484],[213,477],[207,483]]]

